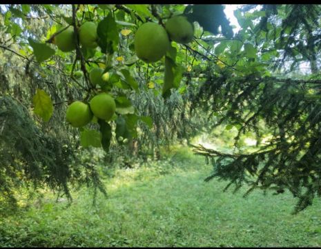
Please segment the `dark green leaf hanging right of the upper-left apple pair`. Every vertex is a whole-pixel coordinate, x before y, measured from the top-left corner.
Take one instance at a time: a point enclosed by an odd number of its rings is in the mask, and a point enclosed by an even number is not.
[[[97,26],[98,45],[101,52],[113,54],[117,51],[119,43],[119,33],[117,30],[117,23],[112,15],[109,13]]]

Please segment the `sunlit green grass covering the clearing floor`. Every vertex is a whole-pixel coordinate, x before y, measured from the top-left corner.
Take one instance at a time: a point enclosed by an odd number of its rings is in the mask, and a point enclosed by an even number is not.
[[[289,194],[222,192],[204,182],[211,166],[180,150],[172,160],[118,170],[106,181],[108,199],[93,207],[87,190],[75,201],[41,204],[0,218],[1,247],[301,247],[321,246],[320,199],[291,215]]]

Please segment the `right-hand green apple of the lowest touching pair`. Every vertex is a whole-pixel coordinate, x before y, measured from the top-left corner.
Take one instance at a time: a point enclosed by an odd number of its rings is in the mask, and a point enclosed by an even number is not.
[[[113,97],[107,93],[101,93],[90,100],[90,109],[93,114],[99,118],[109,121],[116,110],[116,103]]]

